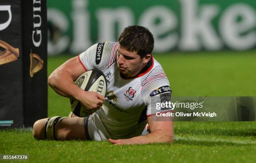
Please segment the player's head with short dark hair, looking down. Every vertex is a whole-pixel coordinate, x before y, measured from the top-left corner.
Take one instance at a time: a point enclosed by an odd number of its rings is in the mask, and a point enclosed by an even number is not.
[[[147,28],[133,25],[123,30],[118,41],[118,70],[124,77],[134,77],[152,58],[153,35]]]

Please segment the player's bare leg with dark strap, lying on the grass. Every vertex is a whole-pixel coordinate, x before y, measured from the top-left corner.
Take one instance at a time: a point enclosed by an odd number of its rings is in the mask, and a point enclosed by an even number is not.
[[[85,140],[84,118],[44,118],[36,121],[33,126],[33,136],[38,140]]]

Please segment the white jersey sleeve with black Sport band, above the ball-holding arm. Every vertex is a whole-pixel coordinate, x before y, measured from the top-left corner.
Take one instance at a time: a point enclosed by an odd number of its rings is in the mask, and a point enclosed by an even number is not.
[[[78,55],[79,62],[86,71],[107,69],[115,62],[117,47],[118,43],[115,42],[97,43]]]

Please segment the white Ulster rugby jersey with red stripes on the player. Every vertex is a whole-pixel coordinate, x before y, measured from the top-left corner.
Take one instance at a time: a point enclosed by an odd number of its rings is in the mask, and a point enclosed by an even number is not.
[[[118,43],[101,42],[78,56],[86,71],[97,68],[107,79],[106,100],[99,110],[90,115],[96,126],[94,132],[98,132],[103,140],[141,135],[147,116],[152,115],[151,97],[163,93],[171,95],[166,74],[153,57],[147,69],[136,78],[121,78],[116,62],[117,49]]]

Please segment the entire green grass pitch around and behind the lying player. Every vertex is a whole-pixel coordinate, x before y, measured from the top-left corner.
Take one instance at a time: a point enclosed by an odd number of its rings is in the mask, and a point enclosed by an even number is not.
[[[71,56],[48,59],[48,74]],[[174,96],[256,96],[256,52],[154,55]],[[69,100],[49,88],[49,117],[67,116]],[[35,140],[31,128],[0,130],[0,154],[30,162],[255,162],[256,122],[174,122],[172,144],[122,145]]]

